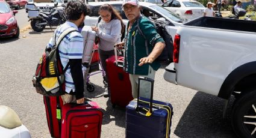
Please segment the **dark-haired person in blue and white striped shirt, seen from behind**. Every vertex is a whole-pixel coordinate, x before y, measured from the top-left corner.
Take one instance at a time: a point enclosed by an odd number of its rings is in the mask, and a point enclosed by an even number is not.
[[[67,21],[55,30],[54,33],[56,34],[56,37],[51,38],[47,48],[54,46],[55,41],[58,41],[60,34],[67,28],[75,28],[78,30],[78,26],[83,25],[85,16],[90,14],[90,10],[87,8],[87,5],[81,1],[70,1],[67,3],[65,13],[67,15]],[[84,103],[84,81],[82,68],[84,49],[83,41],[84,40],[80,32],[75,31],[66,35],[58,47],[63,67],[66,67],[69,63],[69,67],[64,74],[66,94],[61,95],[63,104]]]

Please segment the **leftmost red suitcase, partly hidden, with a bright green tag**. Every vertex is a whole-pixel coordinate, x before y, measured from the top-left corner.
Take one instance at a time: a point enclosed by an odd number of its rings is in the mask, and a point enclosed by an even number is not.
[[[51,137],[60,138],[61,131],[61,107],[63,101],[59,96],[46,97],[43,96],[45,104],[46,118]],[[57,118],[58,114],[58,118]]]

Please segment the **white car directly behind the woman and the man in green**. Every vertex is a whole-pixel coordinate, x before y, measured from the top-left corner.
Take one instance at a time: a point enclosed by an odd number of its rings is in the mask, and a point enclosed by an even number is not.
[[[90,10],[92,13],[90,16],[86,16],[86,19],[84,21],[85,25],[88,26],[95,26],[98,22],[99,17],[99,7],[101,7],[102,4],[110,4],[112,5],[122,16],[123,23],[127,25],[128,19],[125,16],[125,13],[122,10],[122,1],[110,1],[110,2],[90,2]],[[158,19],[163,20],[166,22],[166,29],[169,32],[169,34],[172,36],[172,38],[175,36],[176,29],[178,26],[182,25],[186,20],[182,19],[181,17],[177,16],[176,14],[172,13],[171,11],[168,11],[156,4],[151,4],[148,2],[140,2],[139,3],[142,6],[142,10],[146,9],[149,10],[149,13],[151,14],[151,19]]]

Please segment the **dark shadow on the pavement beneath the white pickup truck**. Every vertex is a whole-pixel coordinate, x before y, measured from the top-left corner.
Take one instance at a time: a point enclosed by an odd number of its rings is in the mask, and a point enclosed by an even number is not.
[[[197,92],[178,122],[174,134],[178,137],[236,137],[231,127],[231,103],[222,118],[224,100]],[[175,111],[173,113],[175,115]]]

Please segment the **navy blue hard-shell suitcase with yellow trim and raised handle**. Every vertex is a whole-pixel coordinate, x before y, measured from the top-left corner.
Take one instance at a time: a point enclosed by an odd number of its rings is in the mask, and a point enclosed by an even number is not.
[[[173,115],[172,105],[170,103],[152,100],[153,79],[139,77],[138,89],[140,89],[140,80],[151,82],[151,99],[138,96],[138,99],[134,99],[126,106],[126,138],[170,137],[170,126]]]

